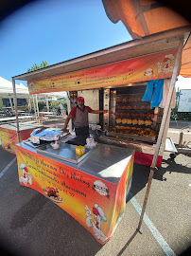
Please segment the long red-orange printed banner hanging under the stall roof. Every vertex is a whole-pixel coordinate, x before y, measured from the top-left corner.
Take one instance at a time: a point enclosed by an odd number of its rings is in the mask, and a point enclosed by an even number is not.
[[[30,94],[75,91],[171,78],[177,49],[60,76],[28,81]]]

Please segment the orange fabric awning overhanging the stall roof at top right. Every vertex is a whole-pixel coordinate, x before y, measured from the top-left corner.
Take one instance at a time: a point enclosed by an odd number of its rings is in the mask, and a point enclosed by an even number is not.
[[[113,23],[119,20],[127,27],[132,39],[189,25],[180,14],[161,3],[151,0],[102,0],[105,11]],[[191,37],[182,51],[180,75],[191,77]]]

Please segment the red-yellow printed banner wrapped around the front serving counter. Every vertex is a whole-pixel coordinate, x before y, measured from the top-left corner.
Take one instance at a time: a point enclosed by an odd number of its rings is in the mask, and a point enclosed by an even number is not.
[[[19,145],[16,145],[16,155],[21,185],[41,192],[67,211],[100,244],[110,239],[125,209],[133,155],[127,160],[127,167],[117,184],[79,172]]]

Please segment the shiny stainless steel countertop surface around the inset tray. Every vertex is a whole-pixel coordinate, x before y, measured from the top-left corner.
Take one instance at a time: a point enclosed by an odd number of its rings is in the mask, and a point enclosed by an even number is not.
[[[61,158],[45,155],[43,151],[38,152],[38,149],[30,147],[24,142],[18,143],[17,145],[40,156],[43,155],[70,166],[80,172],[92,174],[113,183],[117,183],[119,181],[126,166],[130,162],[131,155],[133,154],[133,150],[131,149],[113,145],[98,144],[91,154],[83,158],[78,164],[75,164]]]

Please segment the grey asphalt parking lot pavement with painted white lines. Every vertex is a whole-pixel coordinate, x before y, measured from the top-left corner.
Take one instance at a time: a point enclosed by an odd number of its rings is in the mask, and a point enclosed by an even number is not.
[[[0,237],[11,255],[180,255],[190,246],[191,158],[186,155],[173,160],[165,153],[152,180],[142,233],[136,229],[149,168],[134,165],[124,216],[104,246],[64,210],[19,184],[15,155],[1,147],[0,155]]]

